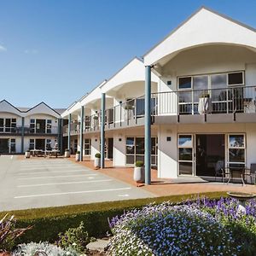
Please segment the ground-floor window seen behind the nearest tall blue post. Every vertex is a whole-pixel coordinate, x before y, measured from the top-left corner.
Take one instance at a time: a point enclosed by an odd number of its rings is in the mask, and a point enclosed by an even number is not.
[[[126,165],[144,162],[144,137],[126,137]],[[151,165],[157,166],[157,137],[151,137]]]

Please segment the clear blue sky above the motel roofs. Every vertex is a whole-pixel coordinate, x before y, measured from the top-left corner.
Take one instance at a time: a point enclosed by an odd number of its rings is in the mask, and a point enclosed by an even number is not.
[[[0,101],[67,108],[202,5],[256,27],[255,0],[0,0]]]

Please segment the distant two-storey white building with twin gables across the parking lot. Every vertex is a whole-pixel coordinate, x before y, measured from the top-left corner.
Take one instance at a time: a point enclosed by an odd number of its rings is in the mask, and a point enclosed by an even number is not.
[[[24,154],[61,145],[61,113],[44,102],[33,108],[16,108],[0,102],[0,154]]]

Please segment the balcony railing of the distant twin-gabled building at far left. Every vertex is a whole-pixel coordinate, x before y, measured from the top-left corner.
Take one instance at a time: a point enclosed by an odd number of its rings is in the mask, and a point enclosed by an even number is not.
[[[7,126],[0,126],[0,134],[15,134],[21,135],[22,130],[24,129],[24,134],[57,134],[58,128],[53,126],[51,128],[32,128],[30,126],[15,126],[15,127],[7,127]]]

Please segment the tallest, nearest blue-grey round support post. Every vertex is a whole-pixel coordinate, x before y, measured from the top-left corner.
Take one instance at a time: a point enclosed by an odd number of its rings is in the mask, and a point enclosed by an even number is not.
[[[151,67],[145,67],[145,184],[151,183]]]

